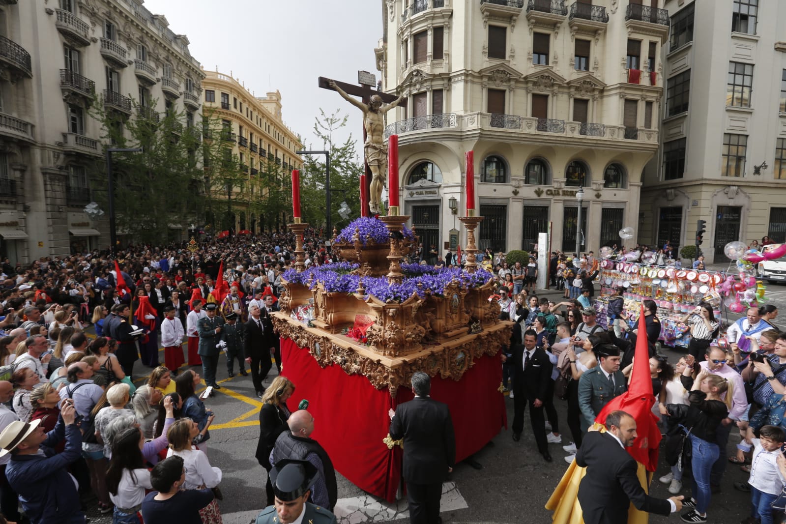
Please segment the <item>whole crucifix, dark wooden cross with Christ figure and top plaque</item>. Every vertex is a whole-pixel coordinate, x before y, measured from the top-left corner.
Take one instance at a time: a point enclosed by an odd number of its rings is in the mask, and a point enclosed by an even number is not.
[[[358,71],[359,86],[346,82],[336,82],[319,77],[319,86],[338,92],[341,97],[363,112],[363,157],[365,159],[365,181],[368,185],[369,211],[373,214],[384,213],[381,203],[382,189],[387,174],[387,145],[384,143],[384,113],[401,105],[406,108],[406,99],[374,90],[374,76],[366,71]],[[357,101],[352,97],[361,97]]]

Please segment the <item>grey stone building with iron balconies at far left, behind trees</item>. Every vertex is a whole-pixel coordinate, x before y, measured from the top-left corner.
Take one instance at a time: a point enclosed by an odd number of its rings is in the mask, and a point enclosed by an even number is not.
[[[123,119],[173,110],[200,122],[204,73],[189,40],[142,3],[0,2],[0,255],[12,262],[108,247],[106,215],[84,211],[86,164],[103,158],[96,104]]]

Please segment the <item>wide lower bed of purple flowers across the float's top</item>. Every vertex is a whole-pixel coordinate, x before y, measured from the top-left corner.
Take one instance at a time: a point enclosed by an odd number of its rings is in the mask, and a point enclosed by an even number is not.
[[[331,293],[354,293],[362,281],[366,295],[382,302],[404,302],[413,293],[421,299],[426,295],[443,296],[446,286],[454,280],[467,288],[479,288],[493,277],[486,269],[480,268],[475,273],[468,273],[458,268],[435,269],[434,266],[402,264],[406,277],[401,284],[390,284],[386,277],[360,277],[350,273],[357,268],[358,264],[340,262],[309,268],[303,273],[288,269],[283,277],[288,282],[310,285],[310,289],[321,283],[325,291]]]

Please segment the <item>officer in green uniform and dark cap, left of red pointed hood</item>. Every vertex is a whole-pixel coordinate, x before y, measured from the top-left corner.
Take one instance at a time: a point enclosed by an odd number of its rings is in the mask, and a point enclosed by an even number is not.
[[[619,371],[619,347],[612,343],[593,346],[598,365],[582,373],[578,379],[578,408],[582,412],[582,431],[595,423],[604,405],[626,392],[628,381]]]

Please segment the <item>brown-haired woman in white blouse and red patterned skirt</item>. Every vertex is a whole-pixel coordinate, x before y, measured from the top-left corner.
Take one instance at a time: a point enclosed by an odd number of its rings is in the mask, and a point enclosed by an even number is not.
[[[221,482],[222,473],[218,467],[212,467],[208,456],[201,453],[192,444],[196,436],[200,434],[199,425],[193,420],[180,419],[171,425],[167,431],[169,439],[170,456],[179,456],[183,460],[185,467],[185,489],[213,489],[218,488]],[[220,493],[220,492],[219,492]],[[222,498],[219,496],[219,498]],[[219,504],[213,500],[207,507],[200,509],[200,517],[204,524],[221,524],[221,512]]]

